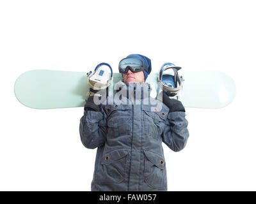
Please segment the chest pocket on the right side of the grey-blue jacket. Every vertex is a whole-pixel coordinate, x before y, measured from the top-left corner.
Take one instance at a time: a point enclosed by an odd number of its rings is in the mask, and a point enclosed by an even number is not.
[[[144,127],[145,134],[159,139],[163,133],[167,112],[151,110],[150,107],[144,107]]]

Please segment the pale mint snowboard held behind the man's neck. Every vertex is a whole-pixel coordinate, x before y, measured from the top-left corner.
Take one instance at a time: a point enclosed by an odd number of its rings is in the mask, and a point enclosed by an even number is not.
[[[227,73],[179,71],[179,75],[184,79],[179,100],[185,107],[223,108],[236,96],[236,84]],[[150,73],[146,80],[153,84],[150,93],[153,98],[157,95],[157,78],[158,73]],[[113,73],[109,89],[122,79],[122,74]],[[89,89],[86,71],[35,69],[22,73],[14,85],[20,103],[36,109],[83,107]]]

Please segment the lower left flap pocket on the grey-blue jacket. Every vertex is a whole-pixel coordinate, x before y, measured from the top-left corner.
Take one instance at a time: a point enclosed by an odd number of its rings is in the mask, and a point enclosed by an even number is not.
[[[129,149],[117,149],[104,153],[100,159],[95,183],[119,183],[124,180]]]

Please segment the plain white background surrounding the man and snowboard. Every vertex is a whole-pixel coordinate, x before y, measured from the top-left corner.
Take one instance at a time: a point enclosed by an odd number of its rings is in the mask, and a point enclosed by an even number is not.
[[[13,93],[30,69],[88,71],[143,54],[158,71],[227,72],[226,108],[186,108],[190,137],[164,147],[168,191],[255,191],[254,1],[0,1],[0,190],[90,191],[96,149],[83,147],[83,108],[35,110]]]

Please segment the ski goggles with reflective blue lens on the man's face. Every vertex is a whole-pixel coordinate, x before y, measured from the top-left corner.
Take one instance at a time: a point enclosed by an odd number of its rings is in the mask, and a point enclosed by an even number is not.
[[[138,58],[125,58],[119,62],[118,69],[120,73],[127,73],[128,69],[132,72],[142,71],[144,62]]]

